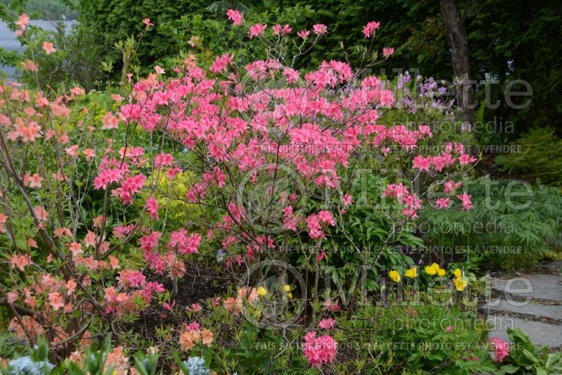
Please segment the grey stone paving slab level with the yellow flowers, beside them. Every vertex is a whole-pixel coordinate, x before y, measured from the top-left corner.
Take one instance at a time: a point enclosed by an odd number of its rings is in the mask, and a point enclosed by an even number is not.
[[[492,289],[518,298],[549,300],[562,303],[562,276],[532,274],[525,277],[492,280]],[[503,298],[502,298],[503,299]]]

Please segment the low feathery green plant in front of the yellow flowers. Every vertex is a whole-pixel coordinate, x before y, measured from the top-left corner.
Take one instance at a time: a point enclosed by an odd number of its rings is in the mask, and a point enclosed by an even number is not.
[[[396,373],[397,366],[410,374],[494,369],[482,345],[488,334],[485,322],[457,305],[366,305],[341,326],[346,331],[342,345],[360,341],[361,348],[369,348],[374,361],[365,370],[378,369],[375,373]]]

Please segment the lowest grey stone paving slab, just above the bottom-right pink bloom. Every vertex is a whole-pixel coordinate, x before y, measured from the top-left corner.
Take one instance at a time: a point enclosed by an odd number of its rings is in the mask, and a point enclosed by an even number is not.
[[[490,331],[490,338],[498,337],[509,340],[507,329],[516,327],[523,329],[535,345],[549,345],[550,348],[562,346],[562,326],[507,316],[492,316],[488,322],[495,327]]]

